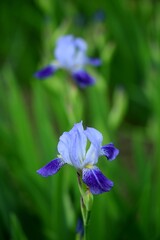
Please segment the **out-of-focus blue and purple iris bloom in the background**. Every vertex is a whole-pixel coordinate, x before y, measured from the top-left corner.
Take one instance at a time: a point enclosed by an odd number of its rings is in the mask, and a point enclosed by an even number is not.
[[[72,35],[60,37],[54,51],[55,61],[36,72],[35,77],[45,79],[62,68],[71,74],[80,87],[93,85],[95,79],[84,70],[84,66],[87,64],[99,66],[101,61],[98,58],[88,58],[86,51],[87,43],[82,38],[75,38]]]

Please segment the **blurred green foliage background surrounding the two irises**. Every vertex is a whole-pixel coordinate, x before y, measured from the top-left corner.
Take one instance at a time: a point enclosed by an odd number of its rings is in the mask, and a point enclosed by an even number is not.
[[[75,170],[36,170],[80,120],[120,149],[99,161],[115,186],[94,198],[89,239],[160,239],[160,2],[6,0],[0,23],[0,239],[75,239]],[[63,72],[33,77],[64,34],[102,59],[88,69],[95,86],[79,89]]]

